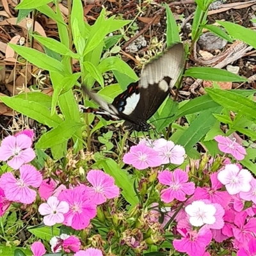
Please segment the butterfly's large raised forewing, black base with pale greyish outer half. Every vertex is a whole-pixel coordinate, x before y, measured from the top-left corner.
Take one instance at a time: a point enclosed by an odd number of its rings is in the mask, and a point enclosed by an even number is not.
[[[184,49],[182,44],[175,44],[170,47],[159,58],[155,58],[145,65],[141,71],[141,78],[138,84],[140,91],[137,99],[132,101],[129,117],[146,122],[157,109],[161,106],[164,99],[168,96],[170,89],[175,85],[179,78],[180,72],[184,67]],[[134,104],[134,102],[136,104]]]

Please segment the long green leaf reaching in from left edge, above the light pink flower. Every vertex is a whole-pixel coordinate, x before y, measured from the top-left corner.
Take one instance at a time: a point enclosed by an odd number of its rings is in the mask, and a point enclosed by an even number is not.
[[[41,124],[48,125],[49,127],[56,127],[58,124],[63,122],[56,113],[51,116],[49,109],[37,102],[19,99],[19,97],[2,96],[0,99],[9,108],[19,111],[23,115],[26,115]]]

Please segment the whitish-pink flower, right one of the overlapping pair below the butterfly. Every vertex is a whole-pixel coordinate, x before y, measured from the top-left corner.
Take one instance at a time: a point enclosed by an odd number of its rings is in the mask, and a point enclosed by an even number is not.
[[[184,162],[185,149],[180,145],[175,145],[172,141],[159,139],[154,143],[162,164],[182,164]]]

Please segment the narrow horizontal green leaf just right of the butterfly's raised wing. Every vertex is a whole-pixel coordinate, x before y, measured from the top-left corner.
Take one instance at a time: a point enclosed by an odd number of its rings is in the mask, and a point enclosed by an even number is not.
[[[193,67],[188,68],[184,76],[194,77],[196,79],[221,81],[221,82],[247,82],[248,79],[237,76],[227,70],[211,67]]]

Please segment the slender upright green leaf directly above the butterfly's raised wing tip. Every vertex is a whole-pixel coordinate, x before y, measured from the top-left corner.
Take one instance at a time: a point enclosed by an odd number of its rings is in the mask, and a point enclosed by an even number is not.
[[[173,45],[175,42],[180,42],[180,36],[179,36],[179,28],[176,24],[175,18],[173,16],[173,13],[168,6],[168,4],[164,3],[165,10],[166,10],[166,44],[167,47]]]

